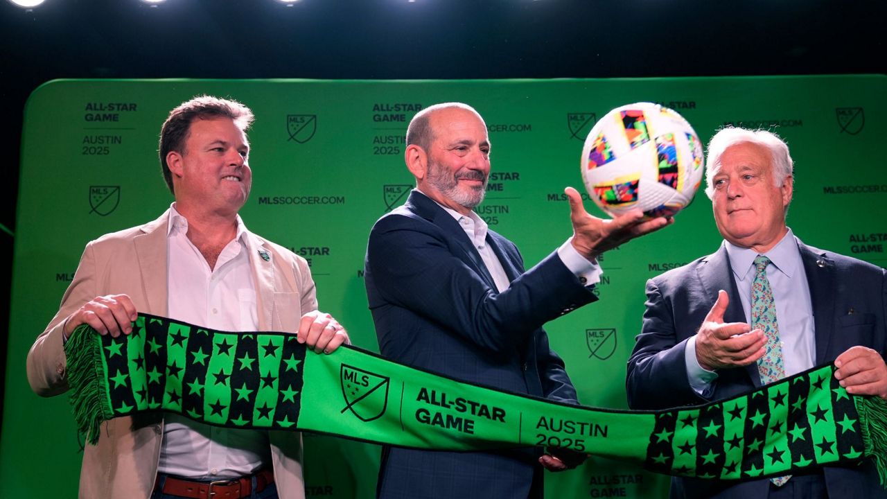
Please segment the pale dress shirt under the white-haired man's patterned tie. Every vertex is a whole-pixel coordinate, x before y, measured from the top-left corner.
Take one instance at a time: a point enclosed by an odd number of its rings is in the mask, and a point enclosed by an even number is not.
[[[730,257],[730,268],[739,290],[742,311],[746,321],[750,322],[751,282],[755,280],[754,260],[758,253],[754,249],[741,248],[726,241],[724,245]],[[767,265],[766,274],[776,304],[776,323],[779,327],[785,375],[792,376],[813,367],[816,337],[813,334],[813,307],[807,274],[791,229],[776,246],[765,253],[765,257],[770,258],[771,262],[771,265]],[[699,365],[696,360],[696,337],[687,341],[684,359],[690,386],[703,397],[707,397],[718,373]]]

